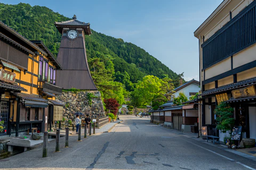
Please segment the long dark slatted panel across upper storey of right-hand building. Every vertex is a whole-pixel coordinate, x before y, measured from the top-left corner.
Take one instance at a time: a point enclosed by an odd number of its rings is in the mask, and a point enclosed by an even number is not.
[[[256,2],[252,2],[202,44],[203,68],[256,43]]]

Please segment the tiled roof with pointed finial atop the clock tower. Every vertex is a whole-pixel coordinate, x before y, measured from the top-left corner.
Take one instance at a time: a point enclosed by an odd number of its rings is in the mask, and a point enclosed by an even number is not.
[[[73,16],[72,20],[68,21],[61,21],[61,22],[54,22],[55,26],[59,30],[60,33],[62,33],[62,29],[64,27],[70,27],[70,28],[83,28],[85,35],[91,35],[91,29],[90,29],[90,23],[85,23],[82,21],[78,21],[76,19],[76,15]]]

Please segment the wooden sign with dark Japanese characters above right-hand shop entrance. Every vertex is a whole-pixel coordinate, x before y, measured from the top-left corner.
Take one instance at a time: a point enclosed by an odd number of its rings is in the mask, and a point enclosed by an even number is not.
[[[232,90],[232,96],[234,99],[256,96],[255,87],[252,85],[249,87]]]

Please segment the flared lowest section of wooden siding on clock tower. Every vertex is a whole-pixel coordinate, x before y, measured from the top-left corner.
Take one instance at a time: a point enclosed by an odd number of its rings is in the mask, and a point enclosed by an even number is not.
[[[63,89],[97,90],[86,70],[57,70],[56,77],[56,85]]]

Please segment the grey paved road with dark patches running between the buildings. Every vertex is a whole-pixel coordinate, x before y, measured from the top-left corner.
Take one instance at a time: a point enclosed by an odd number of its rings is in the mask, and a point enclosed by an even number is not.
[[[148,118],[119,116],[123,122],[110,133],[82,142],[70,137],[70,147],[48,157],[42,146],[4,159],[0,169],[254,169],[256,163],[219,148],[185,137],[182,133],[149,123]]]

